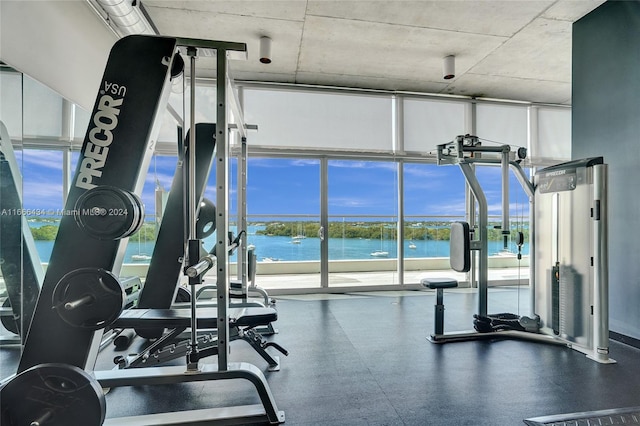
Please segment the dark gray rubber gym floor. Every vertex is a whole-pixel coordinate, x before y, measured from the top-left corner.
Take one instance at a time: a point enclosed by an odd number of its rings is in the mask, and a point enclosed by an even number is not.
[[[532,417],[640,405],[639,349],[612,342],[617,363],[603,365],[526,341],[432,344],[425,337],[434,300],[431,291],[280,297],[273,339],[290,352],[281,371],[268,372],[242,341],[232,343],[230,358],[265,371],[291,425],[524,425]],[[444,302],[445,331],[471,329],[476,295],[455,289]],[[524,309],[526,294],[490,290],[490,312],[515,303]],[[0,353],[4,374],[16,355]],[[103,351],[97,368],[111,368],[114,354]],[[107,417],[258,402],[244,382],[138,386],[111,389]]]

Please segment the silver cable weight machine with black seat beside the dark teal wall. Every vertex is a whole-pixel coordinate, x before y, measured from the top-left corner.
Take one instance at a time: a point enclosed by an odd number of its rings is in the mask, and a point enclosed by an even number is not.
[[[456,287],[455,280],[425,279],[438,291],[434,343],[474,339],[521,338],[561,344],[600,363],[609,358],[607,182],[602,157],[573,161],[538,171],[529,182],[520,162],[526,156],[509,145],[482,146],[478,137],[457,136],[438,145],[438,165],[458,165],[477,202],[478,224],[454,224],[451,232],[451,265],[460,272],[471,269],[472,251],[478,252],[478,312],[475,332],[444,333],[442,290]],[[502,172],[502,224],[505,239],[509,225],[509,169],[529,197],[530,287],[533,317],[489,315],[487,200],[473,166],[499,165]],[[475,212],[472,213],[475,215]],[[467,225],[467,226],[463,226]],[[586,240],[586,241],[585,241]]]

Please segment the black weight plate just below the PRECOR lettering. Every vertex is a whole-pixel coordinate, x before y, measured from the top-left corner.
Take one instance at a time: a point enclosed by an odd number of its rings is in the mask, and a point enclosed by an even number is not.
[[[118,240],[133,234],[144,220],[142,202],[121,188],[97,186],[76,201],[74,218],[87,234],[99,240]]]

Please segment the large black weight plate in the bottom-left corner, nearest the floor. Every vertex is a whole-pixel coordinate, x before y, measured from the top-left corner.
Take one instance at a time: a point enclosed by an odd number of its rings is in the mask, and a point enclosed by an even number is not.
[[[106,402],[96,379],[67,364],[40,364],[0,389],[3,426],[99,426]]]

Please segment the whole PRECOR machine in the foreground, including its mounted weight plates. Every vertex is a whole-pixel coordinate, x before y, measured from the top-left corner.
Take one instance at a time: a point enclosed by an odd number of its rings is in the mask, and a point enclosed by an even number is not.
[[[229,309],[229,242],[217,238],[217,307],[199,318],[195,298],[189,315],[175,312],[127,310],[142,316],[164,316],[191,329],[185,366],[94,372],[102,330],[123,315],[126,295],[113,271],[122,263],[127,237],[142,225],[144,213],[139,194],[158,131],[158,116],[166,105],[170,81],[184,68],[180,54],[190,59],[190,129],[196,129],[195,61],[213,56],[217,63],[215,130],[216,229],[227,235],[228,218],[228,106],[237,105],[227,75],[228,60],[246,59],[246,45],[187,38],[129,36],[114,45],[109,55],[91,122],[85,137],[74,185],[67,197],[51,263],[44,278],[17,375],[2,384],[2,424],[58,426],[246,424],[284,422],[262,372],[247,363],[229,362],[230,325],[240,321],[273,320],[275,310]],[[129,72],[135,69],[135,73]],[[229,100],[231,100],[229,105]],[[239,133],[244,123],[234,109]],[[214,267],[210,256],[201,258],[196,230],[195,131],[191,132],[185,158],[187,179],[184,204],[189,241],[184,253],[185,273],[192,294],[202,275]],[[213,140],[211,141],[213,144]],[[254,309],[251,311],[250,309]],[[175,317],[175,318],[173,318]],[[144,321],[144,318],[142,318]],[[144,323],[135,323],[142,326]],[[135,327],[135,324],[132,325]],[[200,363],[196,331],[199,325],[217,330],[217,365]],[[154,325],[157,327],[157,324]],[[137,328],[137,327],[136,327]],[[71,350],[70,350],[71,348]],[[249,381],[261,404],[106,418],[102,388],[175,384],[206,380]],[[27,397],[28,396],[28,397]]]

